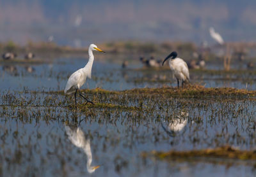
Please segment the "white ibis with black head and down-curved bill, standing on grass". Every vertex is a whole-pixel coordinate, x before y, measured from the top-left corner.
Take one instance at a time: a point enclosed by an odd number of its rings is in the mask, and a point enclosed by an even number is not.
[[[162,66],[164,65],[164,62],[169,59],[169,66],[172,70],[173,75],[177,79],[177,85],[179,88],[179,80],[182,80],[182,87],[184,86],[185,81],[189,82],[189,71],[188,71],[188,64],[184,62],[184,60],[177,58],[177,52],[172,52],[170,55],[164,59]]]

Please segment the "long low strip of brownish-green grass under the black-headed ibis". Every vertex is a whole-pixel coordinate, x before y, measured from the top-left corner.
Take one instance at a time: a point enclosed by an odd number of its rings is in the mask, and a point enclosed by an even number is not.
[[[177,87],[159,87],[159,88],[134,88],[124,91],[109,91],[102,88],[85,89],[81,90],[84,94],[92,95],[129,95],[129,96],[161,96],[161,97],[180,97],[180,98],[207,98],[207,97],[234,97],[244,99],[255,99],[256,90],[245,90],[230,87],[223,88],[205,88],[201,85],[189,85],[184,88]],[[49,92],[46,92],[49,94]],[[63,94],[63,90],[57,92],[51,92],[57,94]]]

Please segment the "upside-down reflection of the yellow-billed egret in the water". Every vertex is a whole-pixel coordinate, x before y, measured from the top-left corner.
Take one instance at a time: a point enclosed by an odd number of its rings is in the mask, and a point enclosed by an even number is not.
[[[93,173],[97,168],[100,166],[91,166],[92,164],[92,151],[91,151],[91,145],[90,145],[90,139],[85,139],[84,132],[77,127],[77,129],[70,129],[70,127],[65,126],[65,130],[68,135],[68,139],[71,141],[71,143],[77,148],[82,148],[84,153],[87,156],[87,171],[88,173]]]

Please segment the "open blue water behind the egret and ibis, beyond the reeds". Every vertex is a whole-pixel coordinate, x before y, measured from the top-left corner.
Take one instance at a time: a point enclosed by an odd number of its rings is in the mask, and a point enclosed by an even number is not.
[[[111,60],[111,59],[109,59]],[[88,79],[83,88],[104,88],[106,90],[126,90],[131,88],[177,86],[169,69],[143,68],[139,62],[131,62],[122,69],[121,63],[100,60],[93,64],[92,79]],[[120,59],[122,60],[122,59]],[[112,60],[113,61],[113,60]],[[47,64],[1,64],[1,90],[63,90],[68,76],[86,64],[83,58],[53,59]],[[209,64],[207,68],[216,68]],[[221,67],[221,66],[220,66]],[[219,68],[220,68],[219,67]],[[256,77],[250,73],[207,74],[190,72],[191,83],[205,87],[234,87],[255,90]]]

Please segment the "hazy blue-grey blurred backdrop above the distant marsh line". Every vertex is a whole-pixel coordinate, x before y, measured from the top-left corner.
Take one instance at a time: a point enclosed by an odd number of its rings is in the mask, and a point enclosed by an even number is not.
[[[1,0],[0,42],[54,39],[87,46],[121,39],[209,41],[209,27],[225,41],[255,41],[256,1],[246,0]]]

